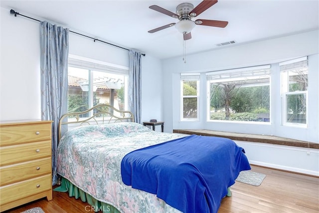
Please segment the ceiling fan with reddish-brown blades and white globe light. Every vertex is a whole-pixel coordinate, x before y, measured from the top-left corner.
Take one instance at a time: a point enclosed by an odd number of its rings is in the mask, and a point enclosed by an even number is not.
[[[169,23],[164,26],[152,29],[148,32],[153,33],[166,29],[171,26],[175,26],[177,30],[183,33],[184,40],[191,38],[190,31],[195,27],[195,25],[206,25],[206,26],[215,26],[215,27],[225,27],[228,24],[228,21],[219,21],[219,20],[207,20],[207,19],[197,19],[195,21],[191,20],[193,17],[196,17],[212,5],[217,3],[217,0],[203,0],[195,8],[191,3],[181,3],[176,7],[176,13],[173,13],[167,9],[164,9],[158,5],[151,5],[149,8],[154,9],[158,12],[161,12],[165,15],[169,15],[173,18],[177,18],[179,21],[177,23]]]

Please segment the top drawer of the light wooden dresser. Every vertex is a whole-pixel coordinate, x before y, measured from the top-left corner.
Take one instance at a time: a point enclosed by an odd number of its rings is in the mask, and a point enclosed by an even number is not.
[[[0,126],[0,146],[51,140],[51,122]]]

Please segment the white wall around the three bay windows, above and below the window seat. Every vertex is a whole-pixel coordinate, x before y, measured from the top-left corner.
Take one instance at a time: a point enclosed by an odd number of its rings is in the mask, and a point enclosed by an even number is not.
[[[280,72],[278,63],[287,59],[309,55],[309,127],[294,128],[281,125]],[[210,129],[251,134],[275,135],[319,143],[319,31],[310,31],[290,36],[273,38],[242,45],[226,46],[222,49],[187,55],[184,64],[181,57],[163,61],[164,120],[165,131],[173,129]],[[201,72],[201,82],[206,82],[204,72],[254,65],[272,64],[271,124],[235,124],[206,120],[206,83],[200,86],[200,121],[180,121],[180,77],[181,72]],[[279,109],[279,110],[274,110]],[[291,147],[240,143],[247,149],[250,162],[278,169],[319,175],[319,151],[307,149],[297,152]],[[267,154],[266,154],[267,153]],[[297,153],[299,153],[297,155]],[[286,160],[283,160],[286,159]],[[295,163],[298,159],[299,163]]]

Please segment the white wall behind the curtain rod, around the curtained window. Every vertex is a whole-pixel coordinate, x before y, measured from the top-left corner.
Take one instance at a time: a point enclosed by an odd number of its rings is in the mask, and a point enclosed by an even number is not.
[[[0,120],[40,119],[39,22],[0,9]],[[71,32],[69,54],[129,66],[127,50]],[[142,121],[163,119],[161,81],[160,60],[142,56]]]

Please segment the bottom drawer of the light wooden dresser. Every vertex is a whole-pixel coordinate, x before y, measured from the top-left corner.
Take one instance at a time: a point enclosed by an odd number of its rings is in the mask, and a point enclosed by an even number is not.
[[[51,174],[0,187],[0,205],[52,189]]]

